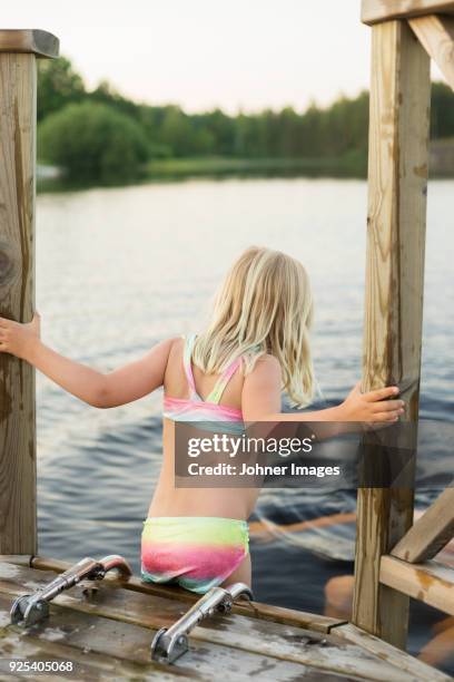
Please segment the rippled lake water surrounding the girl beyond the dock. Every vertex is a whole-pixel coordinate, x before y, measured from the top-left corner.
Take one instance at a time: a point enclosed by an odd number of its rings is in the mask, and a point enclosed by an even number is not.
[[[453,198],[453,181],[430,184],[422,380],[423,417],[451,421]],[[310,274],[322,405],[338,402],[361,373],[365,216],[361,181],[207,179],[39,195],[43,341],[111,370],[160,339],[198,330],[233,259],[250,244],[267,245],[300,259]],[[96,410],[38,377],[40,554],[72,561],[119,553],[138,571],[161,459],[160,400],[157,392]],[[424,507],[427,498],[417,501]],[[288,524],[354,509],[353,494],[268,489],[256,516]],[[352,525],[253,540],[256,598],[336,613],[326,595],[342,601],[352,574],[348,561],[327,559],[337,540],[337,558],[348,558],[340,555],[352,552]],[[413,653],[441,617],[414,606]]]

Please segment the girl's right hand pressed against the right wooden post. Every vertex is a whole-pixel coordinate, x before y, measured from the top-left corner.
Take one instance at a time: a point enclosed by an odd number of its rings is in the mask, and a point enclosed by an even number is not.
[[[358,382],[339,406],[340,420],[369,423],[397,421],[405,411],[403,400],[393,400],[398,392],[396,386],[391,386],[362,393]]]

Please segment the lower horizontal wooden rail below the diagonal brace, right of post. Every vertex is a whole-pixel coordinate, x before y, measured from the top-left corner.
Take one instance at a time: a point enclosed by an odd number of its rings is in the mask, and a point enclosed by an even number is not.
[[[454,615],[454,568],[433,561],[407,564],[394,556],[383,556],[379,581],[393,590]]]

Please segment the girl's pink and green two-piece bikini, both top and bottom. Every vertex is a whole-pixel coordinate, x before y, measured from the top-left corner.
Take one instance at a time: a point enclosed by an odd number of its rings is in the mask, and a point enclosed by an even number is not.
[[[235,360],[203,400],[196,391],[191,354],[196,337],[185,340],[184,369],[189,398],[164,399],[164,416],[172,421],[226,422],[226,429],[244,428],[241,410],[219,405],[224,390],[240,367]],[[205,594],[224,583],[249,552],[245,520],[221,517],[149,517],[141,536],[141,576],[154,583],[177,583]]]

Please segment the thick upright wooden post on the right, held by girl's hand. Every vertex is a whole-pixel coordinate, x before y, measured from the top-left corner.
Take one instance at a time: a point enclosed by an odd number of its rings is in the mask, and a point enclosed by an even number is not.
[[[372,28],[363,390],[402,387],[417,421],[430,121],[430,60],[406,21]],[[353,622],[404,647],[408,597],[379,562],[413,520],[409,488],[362,488]]]

